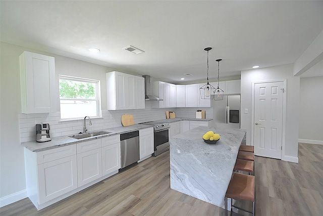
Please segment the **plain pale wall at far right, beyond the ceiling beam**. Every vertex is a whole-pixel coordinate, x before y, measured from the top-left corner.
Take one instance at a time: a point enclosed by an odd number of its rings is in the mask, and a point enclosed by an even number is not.
[[[323,144],[322,93],[323,76],[300,79],[299,142]]]

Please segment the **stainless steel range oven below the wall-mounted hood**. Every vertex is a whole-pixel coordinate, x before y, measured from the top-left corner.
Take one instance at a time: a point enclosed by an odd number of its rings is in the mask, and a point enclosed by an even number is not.
[[[168,140],[170,128],[169,123],[156,123],[154,121],[145,122],[142,124],[153,125],[153,140],[154,140],[154,156],[170,150],[170,143]]]

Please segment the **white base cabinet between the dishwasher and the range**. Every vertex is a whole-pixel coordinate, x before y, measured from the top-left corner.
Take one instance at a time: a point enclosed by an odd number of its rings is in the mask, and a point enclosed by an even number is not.
[[[139,130],[139,152],[142,161],[151,156],[153,149],[153,127]]]

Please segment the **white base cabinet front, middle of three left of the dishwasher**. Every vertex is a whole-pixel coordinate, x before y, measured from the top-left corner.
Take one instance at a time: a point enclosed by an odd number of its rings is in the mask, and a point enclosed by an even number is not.
[[[102,177],[101,139],[77,144],[78,187]]]

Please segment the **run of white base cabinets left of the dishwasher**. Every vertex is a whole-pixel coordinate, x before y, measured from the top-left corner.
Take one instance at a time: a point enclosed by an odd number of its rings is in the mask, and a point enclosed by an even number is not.
[[[41,152],[24,150],[27,196],[38,210],[117,174],[121,167],[120,135]]]

